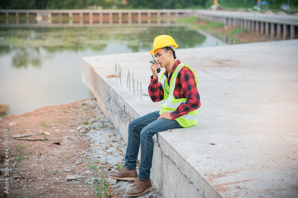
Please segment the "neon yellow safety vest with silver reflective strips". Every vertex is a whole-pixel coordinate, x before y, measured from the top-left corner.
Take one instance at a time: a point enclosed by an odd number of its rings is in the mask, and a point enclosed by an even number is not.
[[[162,75],[160,77],[160,83],[162,84],[162,88],[164,90],[164,101],[160,105],[162,107],[162,110],[159,111],[159,114],[162,114],[164,112],[176,111],[178,106],[182,102],[186,101],[186,98],[175,99],[174,95],[173,95],[173,92],[174,92],[174,89],[175,89],[176,78],[178,76],[178,72],[180,71],[180,69],[183,66],[186,66],[187,68],[189,68],[193,72],[193,74],[195,76],[195,84],[196,84],[196,86],[198,86],[197,76],[195,75],[195,72],[193,71],[193,69],[190,68],[190,66],[187,66],[187,65],[184,65],[184,64],[179,64],[176,67],[176,69],[174,70],[173,74],[172,74],[170,85],[166,82],[167,77],[164,75],[164,73],[162,73]],[[169,92],[169,93],[167,93],[167,92]],[[175,120],[178,121],[178,123],[181,126],[189,127],[189,126],[193,126],[196,123],[198,123],[197,115],[198,115],[198,109],[193,110],[193,111],[187,113],[186,115],[180,116],[179,118],[176,118]]]

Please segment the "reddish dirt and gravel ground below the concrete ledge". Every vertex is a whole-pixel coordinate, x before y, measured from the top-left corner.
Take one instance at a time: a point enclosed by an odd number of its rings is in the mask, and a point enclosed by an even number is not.
[[[0,131],[0,197],[97,197],[93,192],[97,180],[108,182],[106,190],[111,197],[128,197],[125,192],[134,180],[107,176],[124,162],[126,144],[94,98],[5,117],[0,121]],[[31,136],[22,137],[25,140],[13,138],[25,134]],[[4,159],[10,159],[9,195],[4,193]],[[96,171],[98,176],[94,178]],[[161,194],[153,186],[140,197],[161,198]]]

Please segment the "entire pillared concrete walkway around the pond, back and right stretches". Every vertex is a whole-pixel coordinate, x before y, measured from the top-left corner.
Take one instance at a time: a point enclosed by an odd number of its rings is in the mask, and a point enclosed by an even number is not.
[[[80,10],[2,10],[6,23],[0,26],[38,26],[43,20],[49,26],[96,25],[170,25],[171,18],[198,16],[203,20],[223,23],[229,28],[248,31],[277,39],[298,38],[298,17],[257,12],[229,12],[202,9],[80,9]],[[10,16],[13,16],[10,19]]]

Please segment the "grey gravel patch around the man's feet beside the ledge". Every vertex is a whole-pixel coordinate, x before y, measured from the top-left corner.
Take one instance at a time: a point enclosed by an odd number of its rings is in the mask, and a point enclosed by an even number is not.
[[[89,105],[96,105],[95,100],[89,100],[85,103]],[[108,173],[117,172],[117,170],[113,167],[115,167],[117,164],[124,163],[124,156],[127,145],[122,139],[119,131],[114,128],[114,126],[109,122],[109,120],[100,111],[100,109],[97,107],[95,110],[97,112],[97,115],[100,117],[100,121],[92,122],[93,120],[91,120],[90,122],[92,123],[84,127],[88,128],[90,126],[92,128],[100,128],[100,126],[105,126],[106,128],[101,128],[99,130],[90,130],[88,136],[90,137],[90,140],[92,142],[90,145],[92,149],[90,149],[89,152],[86,152],[86,154],[89,156],[89,160],[93,162],[98,161],[99,158],[101,159],[101,161],[103,161],[103,159],[106,159],[107,163],[111,166],[111,170],[109,170]],[[112,155],[108,153],[111,153]],[[139,164],[137,164],[136,170],[139,173]],[[111,180],[110,177],[107,177],[106,179]],[[112,179],[111,187],[114,188],[120,185],[119,189],[126,192],[131,188],[131,185],[134,183],[134,181],[135,180],[129,181]],[[123,194],[122,197],[130,196],[126,196],[125,194]],[[152,189],[150,189],[150,191],[138,197],[162,198],[161,194],[156,190],[154,186],[152,186]]]

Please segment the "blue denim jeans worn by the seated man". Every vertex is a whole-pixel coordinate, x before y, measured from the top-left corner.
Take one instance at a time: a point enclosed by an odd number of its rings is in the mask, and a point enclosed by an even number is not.
[[[141,180],[150,178],[154,147],[153,135],[167,131],[167,129],[183,128],[176,120],[157,118],[159,118],[159,111],[148,113],[131,121],[128,125],[128,143],[124,166],[130,170],[136,169],[136,160],[141,144],[141,161],[138,177]]]

